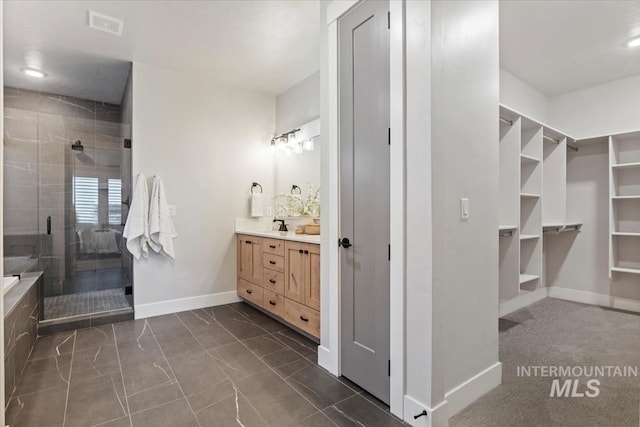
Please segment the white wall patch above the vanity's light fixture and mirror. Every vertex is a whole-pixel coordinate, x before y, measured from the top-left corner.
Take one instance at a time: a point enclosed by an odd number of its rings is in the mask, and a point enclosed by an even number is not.
[[[276,97],[276,135],[320,117],[320,71]]]

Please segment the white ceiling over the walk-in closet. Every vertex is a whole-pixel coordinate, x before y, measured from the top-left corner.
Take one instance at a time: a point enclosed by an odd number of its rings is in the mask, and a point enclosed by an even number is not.
[[[640,74],[640,1],[500,1],[500,65],[547,96]]]

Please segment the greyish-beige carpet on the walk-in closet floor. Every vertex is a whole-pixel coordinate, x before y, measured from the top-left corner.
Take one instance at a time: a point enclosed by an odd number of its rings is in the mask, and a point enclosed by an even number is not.
[[[554,377],[518,376],[519,366],[637,367],[640,315],[547,298],[500,319],[502,385],[453,417],[462,426],[640,426],[640,376],[580,377],[577,393],[549,397]],[[521,368],[522,369],[522,368]],[[631,372],[633,373],[633,372]],[[573,376],[560,378],[560,385]],[[571,394],[571,393],[569,393]]]

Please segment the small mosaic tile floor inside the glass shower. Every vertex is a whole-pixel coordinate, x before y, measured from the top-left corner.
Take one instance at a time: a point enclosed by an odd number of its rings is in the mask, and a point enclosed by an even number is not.
[[[59,319],[129,307],[122,288],[58,295],[44,299],[44,318]]]

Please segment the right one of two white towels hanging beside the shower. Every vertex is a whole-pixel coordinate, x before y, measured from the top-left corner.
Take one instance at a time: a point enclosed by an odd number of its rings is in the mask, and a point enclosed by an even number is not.
[[[151,188],[151,205],[149,207],[149,237],[151,249],[175,260],[173,239],[178,237],[173,226],[164,186],[159,176],[153,177]]]

